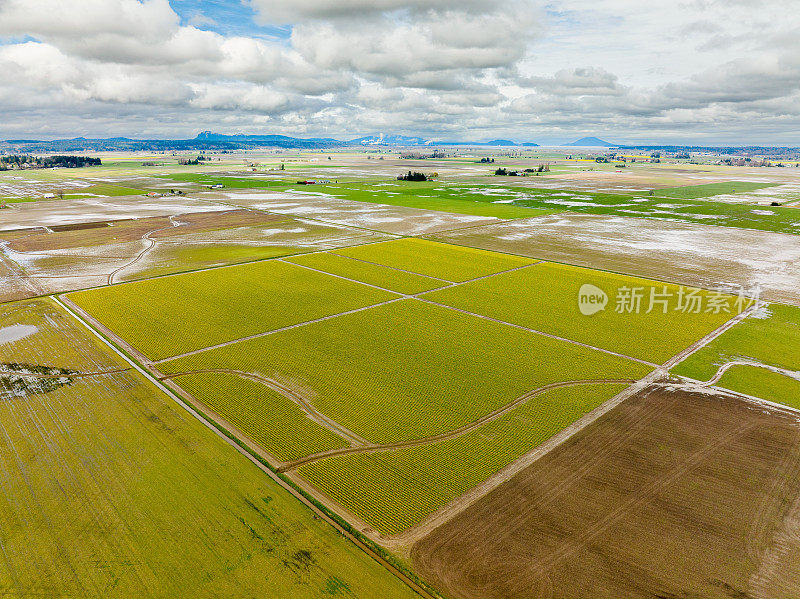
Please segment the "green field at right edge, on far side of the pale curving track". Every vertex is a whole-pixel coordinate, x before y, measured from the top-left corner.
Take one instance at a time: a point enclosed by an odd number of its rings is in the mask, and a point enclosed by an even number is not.
[[[770,304],[757,316],[725,331],[673,372],[707,381],[726,362],[741,359],[800,370],[800,308]]]

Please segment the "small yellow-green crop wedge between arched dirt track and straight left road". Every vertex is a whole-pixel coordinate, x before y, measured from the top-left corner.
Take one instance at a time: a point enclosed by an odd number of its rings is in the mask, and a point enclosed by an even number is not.
[[[308,418],[291,399],[259,382],[220,372],[192,374],[175,381],[279,460],[347,446],[344,439]]]

